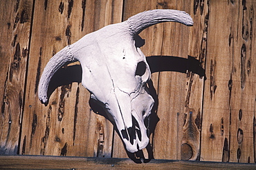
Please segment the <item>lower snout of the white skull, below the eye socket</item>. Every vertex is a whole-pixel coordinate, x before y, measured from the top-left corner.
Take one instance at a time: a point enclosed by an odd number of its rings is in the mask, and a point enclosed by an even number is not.
[[[115,89],[109,100],[108,111],[113,116],[127,151],[131,153],[144,149],[149,143],[144,120],[150,114],[154,100],[144,89],[142,91],[133,96]]]

